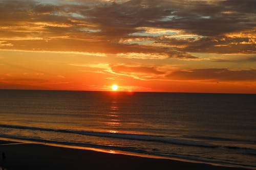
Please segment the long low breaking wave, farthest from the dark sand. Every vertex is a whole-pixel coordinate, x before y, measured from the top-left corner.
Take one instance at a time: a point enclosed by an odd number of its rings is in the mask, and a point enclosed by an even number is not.
[[[129,140],[155,141],[155,142],[164,142],[164,143],[172,143],[172,144],[190,145],[190,146],[196,146],[196,147],[210,147],[210,148],[218,147],[217,145],[202,142],[202,141],[181,139],[181,138],[168,137],[168,136],[95,132],[95,131],[78,131],[78,130],[70,130],[70,129],[50,129],[50,128],[28,127],[28,126],[18,126],[18,125],[1,125],[1,124],[0,124],[0,127],[12,128],[12,129],[71,133],[71,134],[97,136],[97,137],[111,137],[111,138],[129,139]]]

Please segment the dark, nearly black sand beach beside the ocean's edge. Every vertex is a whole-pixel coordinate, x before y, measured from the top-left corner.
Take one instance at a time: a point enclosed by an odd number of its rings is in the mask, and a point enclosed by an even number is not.
[[[6,169],[243,169],[54,147],[44,144],[14,143],[13,141],[0,140],[0,165],[4,165]],[[2,164],[3,152],[6,153],[4,164]]]

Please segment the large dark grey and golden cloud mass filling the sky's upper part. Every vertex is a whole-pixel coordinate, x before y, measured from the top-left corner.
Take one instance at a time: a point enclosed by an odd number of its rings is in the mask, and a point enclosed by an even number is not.
[[[196,59],[190,52],[249,54],[256,51],[253,6],[253,0],[4,0],[0,48],[128,54],[125,58],[133,53],[180,59]]]

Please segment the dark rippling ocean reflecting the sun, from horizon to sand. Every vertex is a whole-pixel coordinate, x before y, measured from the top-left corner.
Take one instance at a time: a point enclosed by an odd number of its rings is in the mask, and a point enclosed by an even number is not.
[[[0,90],[0,137],[256,169],[256,95]]]

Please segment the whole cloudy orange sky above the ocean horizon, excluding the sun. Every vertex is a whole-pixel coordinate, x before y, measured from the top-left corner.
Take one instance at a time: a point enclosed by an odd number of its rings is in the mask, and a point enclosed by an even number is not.
[[[0,89],[256,93],[253,7],[0,1]]]

